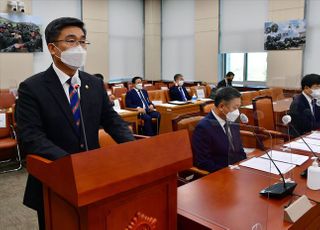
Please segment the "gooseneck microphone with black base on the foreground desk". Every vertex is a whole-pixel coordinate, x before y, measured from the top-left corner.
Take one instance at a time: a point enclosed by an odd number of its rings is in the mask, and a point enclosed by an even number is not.
[[[240,114],[240,121],[242,123],[248,123],[249,119],[245,114]],[[257,142],[259,143],[260,146],[263,146],[263,143],[261,142],[261,140],[258,138],[255,129],[257,129],[257,127],[252,126],[252,125],[248,125],[248,127],[252,128],[252,133],[255,136]],[[268,132],[268,130],[263,129],[264,131]],[[272,136],[271,133],[268,132],[271,140],[272,140]],[[272,141],[271,141],[272,142]],[[295,182],[286,182],[283,174],[281,173],[280,169],[278,168],[278,166],[276,165],[276,163],[274,162],[274,160],[272,159],[272,157],[269,155],[269,153],[266,150],[262,150],[270,159],[270,161],[272,162],[272,164],[274,165],[274,167],[276,168],[276,170],[278,171],[279,175],[281,176],[282,179],[282,183],[276,183],[273,184],[265,189],[262,189],[260,191],[260,195],[262,196],[266,196],[266,197],[270,197],[270,198],[276,198],[276,199],[280,199],[283,198],[287,195],[291,195],[293,190],[295,189],[295,187],[297,186],[297,183]]]

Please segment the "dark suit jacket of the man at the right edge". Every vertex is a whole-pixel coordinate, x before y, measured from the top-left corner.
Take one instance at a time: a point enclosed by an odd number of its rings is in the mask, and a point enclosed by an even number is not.
[[[320,128],[320,107],[315,107],[315,116],[313,116],[306,97],[303,94],[294,97],[290,105],[289,115],[292,118],[291,125],[297,130],[299,135]],[[292,136],[299,136],[292,127],[289,130]]]

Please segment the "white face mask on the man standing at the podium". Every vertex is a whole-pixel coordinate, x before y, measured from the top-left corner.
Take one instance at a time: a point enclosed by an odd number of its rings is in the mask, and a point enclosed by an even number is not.
[[[58,47],[56,47],[59,49]],[[59,49],[60,50],[60,49]],[[58,57],[58,56],[56,56]],[[78,45],[61,52],[61,61],[71,69],[79,69],[86,63],[87,51]],[[59,57],[58,57],[59,58]]]

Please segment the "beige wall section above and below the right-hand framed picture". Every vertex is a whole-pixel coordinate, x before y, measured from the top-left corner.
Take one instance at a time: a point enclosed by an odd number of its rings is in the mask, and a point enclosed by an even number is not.
[[[285,21],[304,18],[304,0],[269,0],[269,20]],[[267,86],[299,88],[303,51],[269,51]]]

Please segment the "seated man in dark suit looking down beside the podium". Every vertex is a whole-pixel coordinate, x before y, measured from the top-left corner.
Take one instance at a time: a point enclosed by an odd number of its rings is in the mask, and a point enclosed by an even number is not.
[[[232,87],[217,90],[212,111],[196,126],[192,135],[194,165],[214,172],[246,158],[240,139],[241,94]]]

